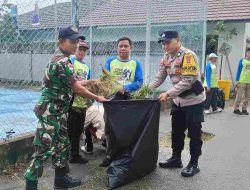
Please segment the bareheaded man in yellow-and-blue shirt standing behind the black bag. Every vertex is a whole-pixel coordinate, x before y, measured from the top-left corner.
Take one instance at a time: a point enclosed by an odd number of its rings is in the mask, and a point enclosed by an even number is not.
[[[141,88],[143,84],[143,73],[139,61],[131,58],[132,40],[122,37],[117,41],[118,56],[108,58],[105,68],[110,74],[118,79],[122,85],[118,90],[114,99],[127,100],[130,98],[129,93]],[[104,114],[105,117],[105,114]],[[115,142],[112,142],[111,131],[105,127],[105,135],[107,140],[107,156],[100,164],[101,167],[107,167],[113,157]]]

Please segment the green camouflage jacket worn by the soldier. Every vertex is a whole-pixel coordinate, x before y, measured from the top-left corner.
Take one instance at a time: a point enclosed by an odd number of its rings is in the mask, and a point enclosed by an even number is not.
[[[69,57],[57,50],[45,70],[42,94],[34,109],[36,115],[58,116],[67,113],[73,95],[71,87],[76,80]],[[44,115],[45,112],[47,114]]]

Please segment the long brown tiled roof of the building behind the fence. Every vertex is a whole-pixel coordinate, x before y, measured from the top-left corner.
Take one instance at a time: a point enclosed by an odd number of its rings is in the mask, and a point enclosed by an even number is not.
[[[154,0],[151,6],[151,22],[179,23],[203,21],[206,6],[204,0]],[[207,20],[250,20],[249,0],[208,0]],[[136,25],[147,22],[147,0],[95,0],[90,14],[89,1],[79,1],[79,25],[93,26]],[[31,23],[32,12],[18,17],[20,29],[56,28],[71,24],[71,2],[58,3],[39,10],[40,25]],[[55,13],[56,12],[56,13]],[[57,14],[57,19],[55,15]]]

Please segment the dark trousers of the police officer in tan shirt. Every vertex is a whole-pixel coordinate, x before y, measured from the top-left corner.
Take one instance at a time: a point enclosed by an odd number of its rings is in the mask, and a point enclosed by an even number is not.
[[[203,144],[201,140],[201,123],[204,121],[203,103],[183,108],[174,105],[171,115],[173,153],[180,155],[184,148],[185,131],[188,129],[191,160],[198,162]]]

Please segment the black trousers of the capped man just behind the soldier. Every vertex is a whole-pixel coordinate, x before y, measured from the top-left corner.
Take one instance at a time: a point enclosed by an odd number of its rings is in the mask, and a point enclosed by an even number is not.
[[[80,136],[85,123],[86,109],[72,107],[68,116],[68,136],[71,144],[70,155],[79,155]]]

